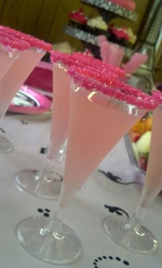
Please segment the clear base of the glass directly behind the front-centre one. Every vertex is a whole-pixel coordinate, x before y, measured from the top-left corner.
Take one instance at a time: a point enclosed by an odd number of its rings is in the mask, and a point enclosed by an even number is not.
[[[43,170],[21,170],[16,173],[16,185],[25,192],[44,199],[58,199],[62,181],[55,174]]]

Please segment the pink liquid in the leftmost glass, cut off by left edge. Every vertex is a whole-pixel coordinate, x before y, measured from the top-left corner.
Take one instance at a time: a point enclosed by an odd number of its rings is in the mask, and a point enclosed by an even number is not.
[[[8,52],[0,47],[0,80],[16,60],[15,56],[8,56]]]

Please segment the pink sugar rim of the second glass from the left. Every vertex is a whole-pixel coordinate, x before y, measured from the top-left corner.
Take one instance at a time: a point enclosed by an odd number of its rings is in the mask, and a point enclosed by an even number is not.
[[[31,47],[38,47],[39,49],[43,49],[47,52],[50,52],[52,49],[52,45],[50,43],[46,43],[45,41],[31,36],[30,34],[25,34],[23,32],[14,30],[10,27],[5,27],[3,25],[0,26],[0,29],[8,32],[8,34],[12,34],[12,36],[19,38],[19,40],[21,41],[27,41],[28,43],[30,43]]]

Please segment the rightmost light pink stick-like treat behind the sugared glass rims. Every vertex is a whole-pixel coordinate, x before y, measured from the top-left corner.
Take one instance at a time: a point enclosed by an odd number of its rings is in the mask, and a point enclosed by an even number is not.
[[[132,58],[124,65],[124,69],[126,70],[127,74],[132,74],[139,66],[143,63],[146,63],[148,59],[147,55],[135,53],[132,55]]]

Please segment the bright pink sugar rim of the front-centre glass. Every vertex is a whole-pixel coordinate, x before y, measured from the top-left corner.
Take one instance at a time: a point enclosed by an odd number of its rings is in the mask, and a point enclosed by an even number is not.
[[[78,85],[84,87],[87,90],[94,91],[94,89],[97,89],[97,91],[100,91],[107,96],[126,101],[128,104],[135,105],[139,109],[153,110],[159,105],[159,101],[153,96],[151,97],[141,92],[141,97],[143,99],[139,99],[136,98],[133,93],[129,94],[127,92],[124,92],[124,88],[117,89],[113,87],[113,85],[107,85],[106,83],[104,84],[99,80],[93,80],[94,78],[90,78],[89,74],[82,74],[82,68],[80,68],[80,73],[78,71],[79,70],[77,67],[69,67],[67,73],[74,79],[75,82],[78,82]],[[122,87],[124,87],[124,83],[122,83]],[[136,89],[134,89],[134,91],[135,90]]]

